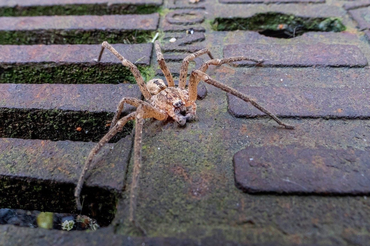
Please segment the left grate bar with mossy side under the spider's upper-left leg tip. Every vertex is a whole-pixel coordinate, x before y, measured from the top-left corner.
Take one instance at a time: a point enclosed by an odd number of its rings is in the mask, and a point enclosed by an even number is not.
[[[113,44],[139,71],[149,66],[152,44]],[[0,45],[0,83],[135,83],[129,68],[96,45]]]

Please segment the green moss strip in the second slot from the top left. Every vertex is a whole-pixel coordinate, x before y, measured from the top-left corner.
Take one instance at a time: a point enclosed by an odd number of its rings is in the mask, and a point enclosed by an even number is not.
[[[152,31],[143,30],[27,30],[0,31],[0,44],[145,43]]]

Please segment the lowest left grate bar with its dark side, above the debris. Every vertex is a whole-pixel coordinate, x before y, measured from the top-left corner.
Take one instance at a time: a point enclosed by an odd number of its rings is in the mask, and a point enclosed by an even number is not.
[[[74,188],[95,143],[0,139],[0,206],[45,212],[78,212]],[[101,226],[114,217],[125,184],[131,136],[107,144],[88,170],[81,199],[83,214]],[[3,215],[3,214],[2,214]]]

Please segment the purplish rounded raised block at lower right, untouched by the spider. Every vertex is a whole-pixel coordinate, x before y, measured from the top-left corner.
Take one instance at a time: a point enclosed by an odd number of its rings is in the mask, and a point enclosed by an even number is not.
[[[236,184],[247,192],[368,194],[370,151],[247,147],[233,158]]]

